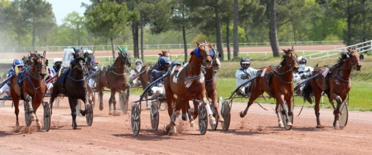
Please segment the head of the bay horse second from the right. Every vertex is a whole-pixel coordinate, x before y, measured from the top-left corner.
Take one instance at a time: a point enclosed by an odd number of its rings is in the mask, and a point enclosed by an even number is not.
[[[293,48],[288,48],[288,49],[283,49],[282,51],[285,53],[282,58],[282,62],[280,62],[280,65],[284,66],[287,65],[290,70],[293,72],[298,72],[298,61],[297,61],[297,54],[295,49]]]

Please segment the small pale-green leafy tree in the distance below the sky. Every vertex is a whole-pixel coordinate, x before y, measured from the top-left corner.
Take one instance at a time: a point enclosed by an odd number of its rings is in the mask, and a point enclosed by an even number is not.
[[[84,16],[80,16],[79,13],[75,11],[67,14],[67,16],[63,19],[62,25],[70,29],[70,31],[68,31],[70,33],[68,36],[70,38],[73,38],[73,42],[77,43],[78,46],[80,46],[83,41],[82,37],[87,34],[87,32],[84,29],[85,25],[84,22],[85,22]]]

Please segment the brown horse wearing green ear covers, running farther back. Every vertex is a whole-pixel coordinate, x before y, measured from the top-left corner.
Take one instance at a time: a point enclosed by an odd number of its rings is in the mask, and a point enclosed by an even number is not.
[[[128,106],[128,96],[129,94],[125,93],[126,89],[129,89],[129,84],[126,83],[126,67],[131,67],[131,56],[128,52],[128,47],[122,49],[119,48],[119,56],[115,59],[115,62],[112,66],[104,67],[101,71],[97,73],[96,84],[97,90],[99,91],[99,110],[103,110],[103,88],[107,87],[111,91],[111,96],[109,99],[109,115],[111,112],[111,104],[113,104],[113,115],[119,116],[120,114],[116,112],[116,100],[115,93],[119,92],[123,94],[123,103],[126,103],[122,108],[127,108]],[[128,95],[128,96],[127,96]],[[119,95],[121,96],[121,95]],[[125,110],[126,111],[126,110]],[[123,111],[124,112],[124,111]]]

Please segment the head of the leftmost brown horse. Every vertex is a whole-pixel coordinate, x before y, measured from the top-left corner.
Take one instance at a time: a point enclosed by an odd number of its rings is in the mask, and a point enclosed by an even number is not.
[[[48,59],[46,58],[47,52],[44,51],[43,55],[38,54],[37,51],[33,52],[33,67],[35,68],[36,72],[34,72],[34,77],[44,78],[47,75],[47,66],[48,66]]]

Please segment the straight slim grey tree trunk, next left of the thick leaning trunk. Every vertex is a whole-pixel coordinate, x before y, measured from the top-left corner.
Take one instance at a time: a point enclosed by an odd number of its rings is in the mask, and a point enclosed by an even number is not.
[[[239,9],[238,0],[234,0],[234,28],[232,29],[234,44],[234,57],[239,56],[239,36],[238,36],[238,26],[239,26]]]

